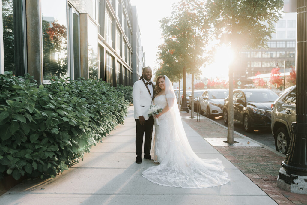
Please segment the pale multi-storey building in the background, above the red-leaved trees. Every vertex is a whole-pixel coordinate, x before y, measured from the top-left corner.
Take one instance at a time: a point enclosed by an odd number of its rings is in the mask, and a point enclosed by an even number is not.
[[[279,67],[281,72],[289,72],[295,66],[296,13],[285,13],[275,24],[276,33],[268,41],[269,49],[243,50],[235,70],[235,81],[251,83],[256,73],[270,73]],[[286,62],[286,67],[285,66]]]

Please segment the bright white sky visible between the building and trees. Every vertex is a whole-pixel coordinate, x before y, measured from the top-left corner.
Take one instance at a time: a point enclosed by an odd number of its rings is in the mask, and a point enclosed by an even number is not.
[[[141,31],[141,45],[145,52],[145,64],[152,69],[158,67],[157,64],[157,47],[163,43],[161,38],[161,29],[159,20],[170,16],[173,3],[178,3],[180,0],[130,0],[132,6],[136,6],[138,13],[138,24]],[[227,53],[219,52],[225,54]],[[217,61],[202,68],[200,77],[220,79],[228,78],[228,66],[225,61],[221,61],[223,56],[219,56]]]

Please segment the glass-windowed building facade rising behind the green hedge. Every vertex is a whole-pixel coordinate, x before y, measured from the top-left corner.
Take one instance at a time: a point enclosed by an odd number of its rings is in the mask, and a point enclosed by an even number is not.
[[[1,73],[133,85],[130,0],[0,2]]]

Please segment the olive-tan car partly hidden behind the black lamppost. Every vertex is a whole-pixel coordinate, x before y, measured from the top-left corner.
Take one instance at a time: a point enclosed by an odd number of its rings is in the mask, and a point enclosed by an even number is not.
[[[291,123],[295,121],[296,86],[286,89],[272,104],[271,129],[278,152],[288,152],[291,136]]]

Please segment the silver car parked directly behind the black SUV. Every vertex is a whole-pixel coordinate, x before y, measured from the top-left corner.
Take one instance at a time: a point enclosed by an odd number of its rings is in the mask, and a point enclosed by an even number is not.
[[[209,89],[200,97],[200,114],[206,113],[208,118],[223,115],[224,99],[228,96],[227,89]]]

